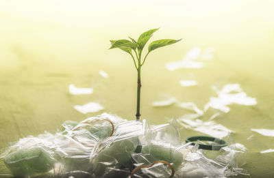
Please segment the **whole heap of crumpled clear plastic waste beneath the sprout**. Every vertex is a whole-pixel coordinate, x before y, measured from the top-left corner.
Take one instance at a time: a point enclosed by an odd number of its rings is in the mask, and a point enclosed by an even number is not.
[[[62,131],[29,136],[1,154],[15,177],[230,177],[245,174],[236,144],[206,152],[185,143],[174,119],[164,125],[103,113]]]

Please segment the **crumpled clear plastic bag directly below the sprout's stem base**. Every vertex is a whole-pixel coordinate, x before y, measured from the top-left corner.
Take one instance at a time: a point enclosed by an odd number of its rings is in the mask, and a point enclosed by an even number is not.
[[[150,140],[149,125],[146,120],[125,121],[118,123],[114,134],[97,143],[90,155],[94,165],[92,172],[97,177],[114,177],[107,168],[132,166],[131,155],[138,145],[147,144]],[[112,170],[113,173],[115,171]]]

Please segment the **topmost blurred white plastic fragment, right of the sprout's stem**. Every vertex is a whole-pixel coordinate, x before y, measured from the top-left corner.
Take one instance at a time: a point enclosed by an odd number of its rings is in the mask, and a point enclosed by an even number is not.
[[[201,49],[196,47],[192,48],[184,57],[182,61],[175,61],[171,63],[166,63],[166,69],[177,70],[180,68],[203,68],[203,63],[195,61],[199,57]]]

